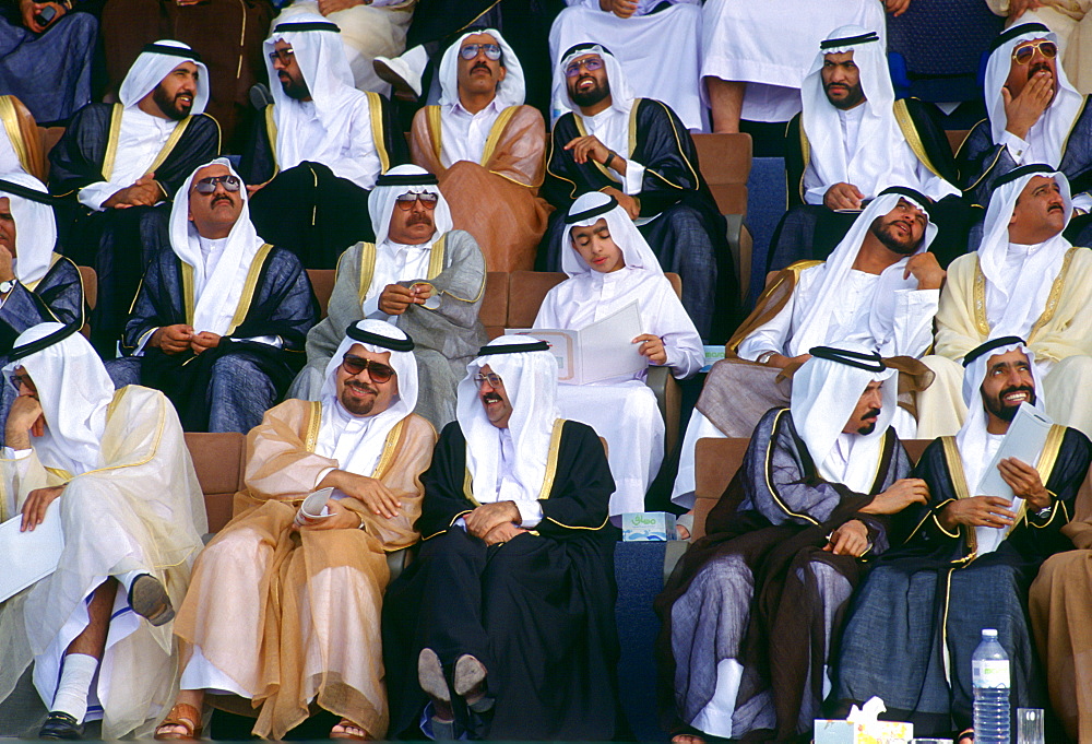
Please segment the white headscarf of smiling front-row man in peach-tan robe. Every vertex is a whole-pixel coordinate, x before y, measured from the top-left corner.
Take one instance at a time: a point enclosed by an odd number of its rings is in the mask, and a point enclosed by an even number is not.
[[[363,340],[349,336],[348,332],[360,335]],[[390,347],[408,345],[412,350],[413,341],[405,331],[382,320],[359,320],[347,329],[347,333],[327,364],[325,378],[319,393],[322,425],[314,451],[337,460],[341,470],[370,475],[379,462],[383,442],[391,429],[417,406],[417,359],[413,351]],[[385,345],[388,342],[369,339],[369,335],[390,339],[390,346]],[[390,366],[397,375],[397,395],[385,411],[375,415],[353,415],[337,399],[337,368],[342,364],[342,357],[354,344],[360,344],[372,354],[390,352]]]

